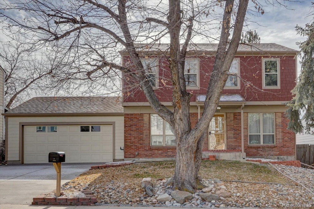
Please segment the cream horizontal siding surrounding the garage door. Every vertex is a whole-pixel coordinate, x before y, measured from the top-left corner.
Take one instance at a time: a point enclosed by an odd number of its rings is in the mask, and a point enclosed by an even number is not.
[[[124,147],[124,117],[118,116],[49,116],[49,117],[9,117],[8,126],[8,161],[20,160],[19,159],[19,139],[20,139],[20,122],[36,122],[41,125],[41,122],[115,122],[115,156],[114,159],[123,159],[123,150],[120,147]]]

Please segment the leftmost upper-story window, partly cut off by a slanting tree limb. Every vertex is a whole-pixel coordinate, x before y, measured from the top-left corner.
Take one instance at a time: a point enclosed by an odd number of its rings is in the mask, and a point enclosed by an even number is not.
[[[158,87],[158,61],[155,58],[141,59],[147,79],[153,87]]]

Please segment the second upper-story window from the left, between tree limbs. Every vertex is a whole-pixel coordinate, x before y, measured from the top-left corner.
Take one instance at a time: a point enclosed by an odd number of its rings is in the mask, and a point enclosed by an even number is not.
[[[187,89],[199,86],[199,60],[197,58],[186,58],[184,63],[184,78]]]

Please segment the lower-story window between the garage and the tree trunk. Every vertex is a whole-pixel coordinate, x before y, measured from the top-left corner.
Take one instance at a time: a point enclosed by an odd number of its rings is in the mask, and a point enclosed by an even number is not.
[[[150,115],[150,144],[152,146],[176,146],[176,137],[169,123],[159,115]]]

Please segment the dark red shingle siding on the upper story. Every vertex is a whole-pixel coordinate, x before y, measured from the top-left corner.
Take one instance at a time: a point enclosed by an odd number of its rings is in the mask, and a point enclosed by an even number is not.
[[[200,89],[189,90],[193,93],[191,101],[195,101],[196,94],[206,94],[210,73],[214,66],[214,57],[199,56],[200,59]],[[257,88],[262,89],[262,56],[236,56],[240,58],[240,75],[243,80],[252,82]],[[172,101],[171,76],[166,59],[159,63],[159,85],[155,90],[161,102]],[[241,94],[247,101],[290,101],[291,90],[295,86],[295,59],[294,56],[283,56],[280,58],[280,89],[267,89],[267,91],[256,91],[248,87],[241,89],[225,89],[223,93]],[[124,77],[123,81],[124,102],[147,102],[143,91],[133,80]]]

